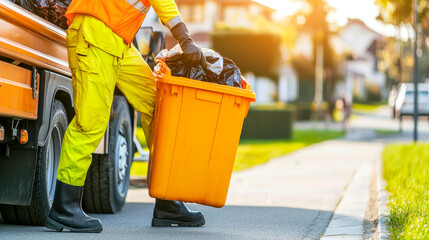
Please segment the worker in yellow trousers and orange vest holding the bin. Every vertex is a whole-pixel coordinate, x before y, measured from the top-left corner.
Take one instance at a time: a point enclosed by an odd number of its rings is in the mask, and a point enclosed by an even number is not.
[[[73,0],[65,14],[67,51],[72,72],[76,116],[64,136],[50,229],[101,232],[99,219],[82,210],[83,185],[91,154],[102,139],[117,86],[134,109],[142,113],[146,139],[150,137],[155,105],[152,71],[131,44],[150,6],[179,42],[188,64],[203,64],[201,49],[189,36],[174,0]],[[156,199],[152,226],[204,225],[201,212],[182,202]]]

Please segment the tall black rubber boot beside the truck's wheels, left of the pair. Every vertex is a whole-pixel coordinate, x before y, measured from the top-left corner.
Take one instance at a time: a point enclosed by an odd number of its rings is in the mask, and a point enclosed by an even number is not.
[[[100,220],[89,217],[82,210],[83,187],[72,186],[57,180],[54,203],[46,219],[46,227],[61,232],[99,233]]]

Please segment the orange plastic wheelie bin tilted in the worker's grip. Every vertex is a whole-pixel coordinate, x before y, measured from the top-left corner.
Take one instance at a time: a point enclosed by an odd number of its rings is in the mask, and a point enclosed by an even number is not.
[[[255,93],[247,84],[241,89],[171,76],[162,60],[155,78],[150,196],[224,206],[243,121]]]

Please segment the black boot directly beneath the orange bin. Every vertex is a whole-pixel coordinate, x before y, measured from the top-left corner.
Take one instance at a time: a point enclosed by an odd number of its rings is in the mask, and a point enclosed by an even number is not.
[[[183,202],[156,199],[152,227],[201,227],[205,223],[202,212],[189,210]]]

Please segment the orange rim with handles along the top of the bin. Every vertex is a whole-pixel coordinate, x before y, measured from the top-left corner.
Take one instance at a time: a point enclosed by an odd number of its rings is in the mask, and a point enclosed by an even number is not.
[[[255,92],[250,90],[251,88],[250,84],[247,85],[246,89],[242,89],[242,88],[237,88],[237,87],[228,86],[228,85],[221,85],[217,83],[194,80],[190,78],[171,76],[171,71],[168,68],[167,64],[165,64],[165,62],[158,61],[158,65],[155,67],[155,76],[157,81],[160,81],[163,83],[174,84],[174,85],[185,86],[185,87],[192,87],[192,88],[203,89],[207,91],[226,93],[230,95],[250,98],[253,102],[255,101],[255,98],[256,98]]]

